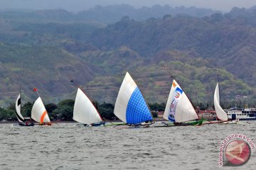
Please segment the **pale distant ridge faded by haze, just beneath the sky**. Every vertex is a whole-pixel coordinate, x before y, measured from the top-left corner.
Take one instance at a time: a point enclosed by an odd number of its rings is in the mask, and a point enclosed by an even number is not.
[[[20,11],[20,10],[2,10],[0,14],[6,20],[14,22],[24,21],[27,22],[67,22],[67,23],[85,23],[85,22],[97,22],[97,23],[114,23],[119,21],[124,16],[136,21],[144,21],[147,18],[155,17],[161,18],[166,14],[176,16],[177,14],[203,17],[210,16],[213,13],[221,13],[220,11],[213,11],[206,8],[196,8],[194,6],[184,7],[177,6],[171,7],[169,5],[160,6],[154,5],[151,7],[134,8],[126,4],[112,5],[112,6],[100,6],[97,5],[93,8],[78,11],[72,13],[64,9],[43,9],[40,11]]]

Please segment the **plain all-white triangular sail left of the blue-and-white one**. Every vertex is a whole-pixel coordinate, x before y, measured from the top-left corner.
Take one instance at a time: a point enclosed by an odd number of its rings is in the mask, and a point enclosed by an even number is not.
[[[102,122],[100,113],[98,113],[90,99],[79,88],[75,97],[73,120],[83,124]]]

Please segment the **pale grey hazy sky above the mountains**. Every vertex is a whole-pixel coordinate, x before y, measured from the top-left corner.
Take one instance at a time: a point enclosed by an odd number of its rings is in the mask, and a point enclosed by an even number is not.
[[[129,4],[135,7],[153,6],[196,6],[228,12],[234,6],[249,8],[256,5],[256,0],[0,0],[0,9],[28,8],[46,9],[63,8],[68,11],[82,11],[95,5]]]

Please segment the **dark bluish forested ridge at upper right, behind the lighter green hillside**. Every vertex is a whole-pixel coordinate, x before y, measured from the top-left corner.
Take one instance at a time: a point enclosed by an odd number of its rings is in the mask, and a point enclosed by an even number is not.
[[[102,50],[125,45],[150,58],[164,50],[191,50],[255,86],[255,17],[252,8],[233,8],[230,13],[204,18],[166,15],[143,22],[123,18],[96,30],[90,42]]]

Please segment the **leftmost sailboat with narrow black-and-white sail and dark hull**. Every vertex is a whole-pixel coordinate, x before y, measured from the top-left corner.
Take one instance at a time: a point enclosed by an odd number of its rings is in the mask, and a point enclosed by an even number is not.
[[[22,126],[33,126],[33,120],[31,118],[23,118],[21,115],[21,91],[20,94],[18,94],[18,98],[16,99],[15,103],[15,109],[16,109],[16,117],[18,119],[18,125]]]

